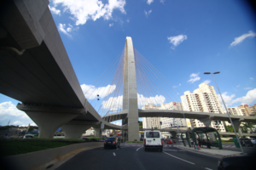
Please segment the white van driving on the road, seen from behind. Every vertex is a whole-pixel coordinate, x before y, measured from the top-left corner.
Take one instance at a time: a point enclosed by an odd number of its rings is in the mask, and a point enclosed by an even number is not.
[[[163,151],[163,139],[159,130],[144,131],[144,150],[150,149]]]

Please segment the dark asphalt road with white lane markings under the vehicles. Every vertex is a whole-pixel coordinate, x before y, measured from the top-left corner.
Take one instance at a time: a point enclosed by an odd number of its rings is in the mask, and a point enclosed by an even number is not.
[[[217,169],[218,158],[203,156],[174,146],[164,151],[144,151],[142,145],[122,144],[121,148],[85,150],[63,163],[57,170],[70,169]]]

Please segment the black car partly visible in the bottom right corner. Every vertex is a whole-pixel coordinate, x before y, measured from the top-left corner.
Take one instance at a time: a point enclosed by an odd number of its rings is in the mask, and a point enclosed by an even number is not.
[[[255,152],[224,156],[218,160],[218,170],[254,170],[255,160]]]

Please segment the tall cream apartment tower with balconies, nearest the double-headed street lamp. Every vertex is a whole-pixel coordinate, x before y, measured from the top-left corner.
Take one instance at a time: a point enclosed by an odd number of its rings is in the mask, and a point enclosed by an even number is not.
[[[223,113],[214,87],[205,82],[201,83],[193,93],[190,91],[184,92],[181,100],[184,111]],[[191,127],[205,127],[204,123],[197,119],[190,119],[190,122]],[[216,124],[215,121],[212,121],[211,126],[215,127],[219,132],[225,132],[223,122]]]

